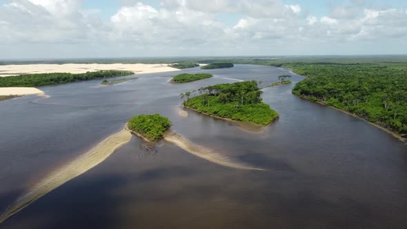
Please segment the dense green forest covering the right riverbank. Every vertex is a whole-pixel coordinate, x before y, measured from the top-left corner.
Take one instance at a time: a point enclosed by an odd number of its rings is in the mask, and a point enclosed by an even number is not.
[[[307,76],[292,93],[348,110],[407,134],[407,65],[388,63],[321,65],[293,63]]]

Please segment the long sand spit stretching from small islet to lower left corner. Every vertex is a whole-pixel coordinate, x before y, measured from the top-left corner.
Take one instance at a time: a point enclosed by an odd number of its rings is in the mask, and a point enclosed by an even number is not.
[[[67,181],[70,181],[71,179],[78,177],[84,172],[97,166],[99,163],[112,155],[115,150],[128,143],[131,137],[132,135],[130,132],[127,130],[121,130],[121,132],[110,135],[110,137],[101,141],[101,143],[92,148],[90,151],[86,152],[84,155],[81,155],[65,166],[55,170],[48,177],[45,177],[39,181],[39,183],[28,190],[28,192],[21,195],[19,199],[14,201],[14,203],[8,206],[3,212],[0,212],[0,223],[8,219],[8,217],[16,214],[23,208],[26,208],[43,195],[46,195],[48,192],[58,188],[63,183],[66,183]]]

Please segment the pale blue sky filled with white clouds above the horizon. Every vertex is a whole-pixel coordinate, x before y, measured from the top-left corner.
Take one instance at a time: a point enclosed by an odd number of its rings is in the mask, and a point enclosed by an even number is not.
[[[0,0],[0,59],[407,54],[406,0]]]

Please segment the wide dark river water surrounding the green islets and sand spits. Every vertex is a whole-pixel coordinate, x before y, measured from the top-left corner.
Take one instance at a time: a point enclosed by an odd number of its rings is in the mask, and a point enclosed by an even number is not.
[[[174,85],[163,77],[174,73],[143,74],[109,87],[97,87],[100,81],[43,87],[49,99],[1,102],[0,208],[142,113],[159,112],[193,143],[267,171],[219,166],[170,143],[145,152],[132,137],[0,228],[407,228],[404,143],[295,97],[294,84],[264,90],[280,119],[261,133],[195,112],[181,117],[181,92],[234,82],[222,78],[266,86],[287,74],[241,65],[207,72],[215,77]]]

